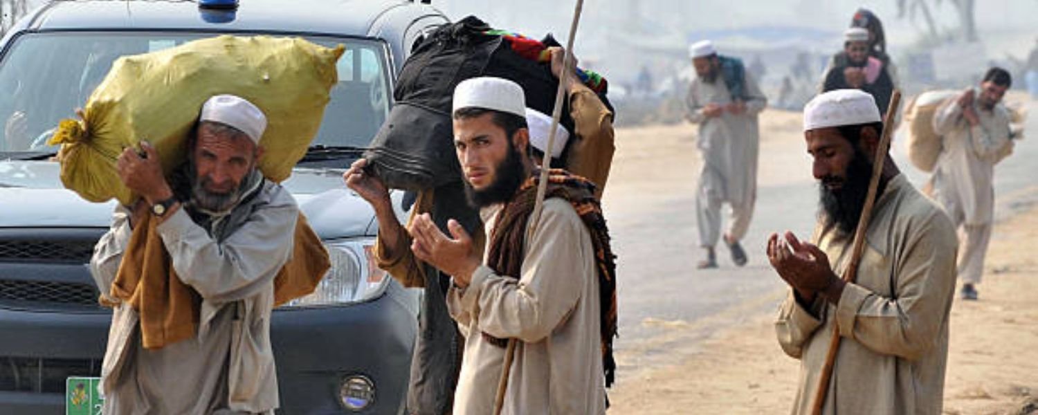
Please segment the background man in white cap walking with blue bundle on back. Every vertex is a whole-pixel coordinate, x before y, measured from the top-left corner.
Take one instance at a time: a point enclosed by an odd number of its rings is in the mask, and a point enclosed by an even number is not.
[[[720,239],[721,203],[731,206],[725,244],[732,261],[741,267],[747,258],[739,241],[749,228],[757,199],[757,115],[767,99],[742,62],[717,55],[710,40],[692,45],[690,54],[696,77],[685,100],[686,118],[700,125],[696,145],[703,154],[695,217],[706,258],[698,267],[717,268],[714,246]]]

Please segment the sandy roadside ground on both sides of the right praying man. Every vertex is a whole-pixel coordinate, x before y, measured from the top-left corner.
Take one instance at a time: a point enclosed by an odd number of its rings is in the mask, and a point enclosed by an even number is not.
[[[947,414],[1038,413],[1038,209],[1000,223],[981,301],[956,300]],[[785,413],[797,361],[778,349],[771,315],[718,333],[691,358],[643,374],[611,393],[610,414]],[[679,411],[684,412],[684,411]]]

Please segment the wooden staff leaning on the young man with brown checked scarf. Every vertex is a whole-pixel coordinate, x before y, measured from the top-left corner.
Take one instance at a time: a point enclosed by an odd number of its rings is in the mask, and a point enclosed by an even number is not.
[[[573,10],[573,22],[570,24],[570,36],[566,40],[565,58],[563,59],[563,71],[558,79],[558,89],[555,91],[555,107],[551,113],[551,128],[548,130],[548,145],[545,146],[545,160],[541,166],[541,177],[537,186],[537,198],[534,200],[534,212],[530,214],[529,233],[534,234],[537,224],[541,220],[541,211],[544,209],[544,195],[548,191],[548,169],[551,165],[551,148],[555,144],[555,131],[558,130],[558,120],[563,116],[563,100],[566,99],[566,75],[573,68],[573,39],[576,38],[577,25],[580,23],[580,12],[583,9],[583,0],[577,0]],[[516,276],[518,277],[518,276]],[[500,415],[504,407],[504,393],[509,390],[509,375],[512,372],[512,363],[516,355],[516,339],[510,338],[509,344],[504,349],[504,366],[501,367],[501,379],[497,382],[497,397],[494,399],[494,415]]]

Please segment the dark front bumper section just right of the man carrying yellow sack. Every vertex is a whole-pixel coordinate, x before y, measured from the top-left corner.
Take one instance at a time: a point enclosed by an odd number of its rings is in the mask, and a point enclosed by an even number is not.
[[[281,394],[278,413],[402,413],[418,331],[417,309],[417,293],[390,280],[386,293],[375,301],[275,312],[271,342]],[[346,410],[338,402],[340,382],[352,375],[375,384],[374,402],[360,412]]]

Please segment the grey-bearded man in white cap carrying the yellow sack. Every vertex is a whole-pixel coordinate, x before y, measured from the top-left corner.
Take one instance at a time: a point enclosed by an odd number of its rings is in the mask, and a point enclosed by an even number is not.
[[[271,309],[301,217],[290,193],[256,168],[266,127],[255,105],[216,95],[189,137],[188,163],[169,182],[151,145],[141,143],[143,155],[127,148],[119,156],[119,177],[141,200],[116,209],[90,260],[108,294],[103,300],[114,304],[102,367],[104,413],[253,414],[278,407]],[[137,227],[147,226],[168,252],[163,264],[148,259],[157,240],[137,249]],[[156,303],[164,307],[159,313]],[[194,312],[182,312],[184,305]]]

